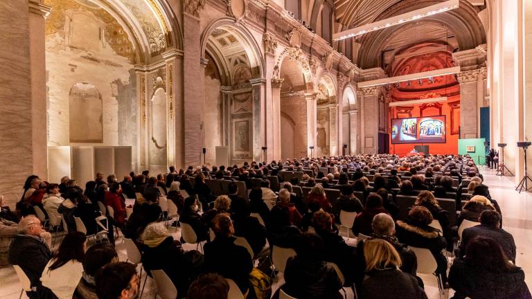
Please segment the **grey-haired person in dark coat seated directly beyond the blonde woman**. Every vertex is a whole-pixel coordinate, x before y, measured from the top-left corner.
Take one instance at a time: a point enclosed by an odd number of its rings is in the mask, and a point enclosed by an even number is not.
[[[405,273],[416,277],[416,271],[418,269],[418,260],[416,258],[416,253],[408,249],[408,246],[399,242],[396,233],[396,224],[393,222],[393,219],[390,215],[381,213],[373,217],[371,221],[371,228],[373,228],[373,233],[370,235],[370,239],[384,239],[389,244],[396,248],[396,251],[401,257],[401,264],[399,269]],[[357,269],[355,273],[355,284],[357,287],[362,287],[362,280],[364,279],[364,271],[366,269],[366,260],[364,257],[364,241],[360,241],[357,244],[357,255],[356,255],[356,266],[354,269]],[[418,278],[421,287],[423,287],[423,280]]]

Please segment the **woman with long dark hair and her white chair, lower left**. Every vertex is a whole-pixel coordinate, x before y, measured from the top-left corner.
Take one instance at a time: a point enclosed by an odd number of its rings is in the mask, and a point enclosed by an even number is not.
[[[44,287],[51,289],[59,299],[71,299],[83,274],[83,258],[87,246],[84,233],[68,233],[57,253],[46,264],[41,275]]]

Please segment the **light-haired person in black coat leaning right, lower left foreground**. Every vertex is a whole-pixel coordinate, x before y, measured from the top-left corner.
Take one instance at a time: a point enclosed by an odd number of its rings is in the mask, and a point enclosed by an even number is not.
[[[181,244],[174,238],[163,222],[154,222],[144,229],[142,236],[142,266],[149,273],[151,270],[163,270],[172,280],[177,293],[188,291],[193,264],[184,255]]]

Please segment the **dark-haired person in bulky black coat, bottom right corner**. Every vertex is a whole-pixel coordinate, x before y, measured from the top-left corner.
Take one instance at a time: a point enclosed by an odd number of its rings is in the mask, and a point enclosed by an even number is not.
[[[465,258],[454,259],[449,272],[453,299],[531,299],[521,268],[508,262],[500,244],[475,237],[465,247]]]

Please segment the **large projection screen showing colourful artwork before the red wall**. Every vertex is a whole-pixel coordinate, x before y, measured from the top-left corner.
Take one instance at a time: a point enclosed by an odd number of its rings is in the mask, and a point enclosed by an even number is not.
[[[393,118],[391,143],[445,143],[445,116]]]

